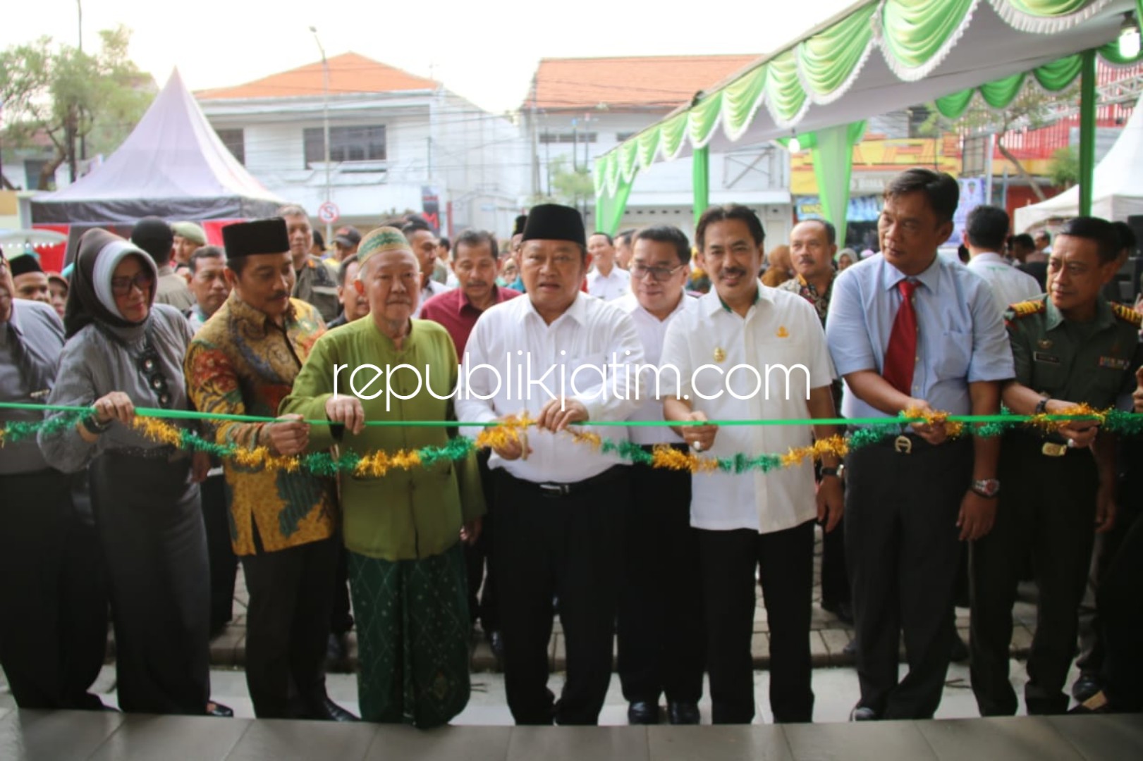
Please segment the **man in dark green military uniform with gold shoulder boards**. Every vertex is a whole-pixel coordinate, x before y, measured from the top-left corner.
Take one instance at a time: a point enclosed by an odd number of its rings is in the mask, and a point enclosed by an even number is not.
[[[1014,304],[1008,337],[1016,376],[1005,404],[1017,415],[1063,414],[1086,402],[1114,404],[1135,387],[1143,315],[1109,304],[1100,291],[1116,273],[1119,239],[1095,217],[1072,219],[1048,259],[1048,293]],[[1116,441],[1095,420],[1070,420],[1052,433],[1005,435],[1000,505],[992,532],[973,546],[972,678],[983,715],[1016,712],[1008,681],[1012,606],[1025,553],[1040,590],[1024,697],[1030,714],[1063,713],[1064,681],[1076,652],[1077,609],[1095,531],[1111,528]]]

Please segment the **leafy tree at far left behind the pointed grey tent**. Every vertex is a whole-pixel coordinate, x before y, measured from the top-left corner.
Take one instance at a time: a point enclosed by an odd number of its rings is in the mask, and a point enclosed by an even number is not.
[[[0,98],[6,142],[27,145],[46,136],[55,155],[40,173],[48,190],[56,169],[67,162],[77,176],[77,142],[93,152],[118,146],[142,118],[155,87],[127,57],[130,32],[119,26],[99,32],[95,55],[43,37],[0,53]]]

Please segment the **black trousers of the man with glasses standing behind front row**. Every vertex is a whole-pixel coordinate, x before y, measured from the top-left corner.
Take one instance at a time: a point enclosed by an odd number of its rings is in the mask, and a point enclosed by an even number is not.
[[[704,644],[690,473],[634,465],[631,483],[616,628],[623,697],[697,703]]]

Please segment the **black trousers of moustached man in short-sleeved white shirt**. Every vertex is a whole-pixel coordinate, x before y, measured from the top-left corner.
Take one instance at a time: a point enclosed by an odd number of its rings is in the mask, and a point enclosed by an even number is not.
[[[754,572],[770,627],[770,710],[778,723],[814,718],[809,619],[814,521],[782,531],[698,529],[706,609],[706,668],[716,724],[754,718]]]

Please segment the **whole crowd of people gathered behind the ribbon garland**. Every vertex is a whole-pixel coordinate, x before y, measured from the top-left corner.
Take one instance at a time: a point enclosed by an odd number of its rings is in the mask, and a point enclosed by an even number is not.
[[[706,209],[693,246],[673,226],[613,238],[541,205],[503,248],[408,215],[343,227],[326,254],[287,206],[224,226],[222,246],[153,217],[130,240],[88,231],[69,279],[0,258],[0,401],[23,404],[0,419],[42,424],[0,451],[0,664],[17,704],[103,707],[89,688],[110,601],[123,711],[230,715],[210,699],[209,641],[241,563],[259,718],[358,720],[325,686],[355,626],[360,719],[447,723],[469,700],[479,623],[517,723],[597,723],[613,646],[631,723],[658,723],[664,698],[668,721],[698,723],[704,674],[713,722],[749,723],[760,585],[773,715],[809,722],[820,526],[822,606],[854,624],[853,720],[934,715],[958,602],[980,711],[1014,714],[1026,578],[1028,712],[1069,708],[1086,594],[1076,710],[1143,710],[1132,442],[1092,418],[954,436],[938,415],[1143,411],[1143,315],[1104,294],[1134,239],[1071,219],[1038,282],[1002,209],[969,215],[968,266],[940,255],[957,205],[948,175],[902,173],[880,253],[862,257],[820,219],[767,257],[737,205]],[[545,368],[570,387],[531,377]],[[91,414],[72,425],[58,407]],[[513,433],[333,478],[179,449],[134,426],[137,408],[201,412],[171,423],[282,457]],[[816,465],[692,474],[621,454],[782,454],[903,412],[917,422],[844,458],[823,447]],[[777,419],[805,424],[725,424]]]

